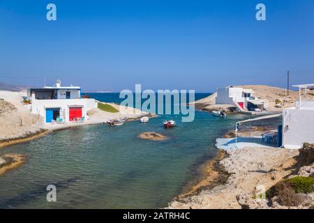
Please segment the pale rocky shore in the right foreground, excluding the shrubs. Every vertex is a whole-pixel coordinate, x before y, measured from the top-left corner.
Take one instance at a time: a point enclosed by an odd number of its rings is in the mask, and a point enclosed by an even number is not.
[[[238,148],[219,151],[204,166],[204,178],[190,192],[175,197],[167,209],[265,209],[311,208],[314,192],[295,194],[284,189],[278,196],[266,197],[267,190],[281,185],[287,178],[313,182],[314,145],[310,149]],[[314,187],[311,185],[311,187]],[[281,188],[281,187],[279,187]],[[261,198],[260,198],[261,196]],[[264,196],[264,197],[263,197]],[[287,201],[299,200],[298,205]],[[285,202],[281,202],[284,200]]]

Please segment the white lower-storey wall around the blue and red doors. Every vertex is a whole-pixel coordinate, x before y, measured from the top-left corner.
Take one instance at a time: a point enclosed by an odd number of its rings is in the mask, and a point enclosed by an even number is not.
[[[83,99],[55,99],[55,100],[33,100],[31,103],[31,113],[40,114],[46,118],[45,108],[60,107],[60,112],[64,111],[66,122],[69,121],[69,107],[82,106],[82,116],[86,117],[90,109],[97,107],[97,103],[93,98]],[[61,117],[62,118],[62,117]]]

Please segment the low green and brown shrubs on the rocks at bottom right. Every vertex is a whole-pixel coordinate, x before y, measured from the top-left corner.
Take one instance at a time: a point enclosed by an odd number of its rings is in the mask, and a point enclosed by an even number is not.
[[[284,206],[298,206],[304,200],[301,193],[314,192],[314,178],[296,176],[281,180],[267,190],[267,197],[278,197],[278,202]]]

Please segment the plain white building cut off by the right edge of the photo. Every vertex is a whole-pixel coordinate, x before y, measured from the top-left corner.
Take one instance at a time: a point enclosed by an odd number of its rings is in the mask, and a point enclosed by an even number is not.
[[[283,109],[283,146],[301,148],[304,142],[314,144],[314,101],[301,100],[301,89],[314,84],[295,85],[299,88],[299,101],[294,107]]]

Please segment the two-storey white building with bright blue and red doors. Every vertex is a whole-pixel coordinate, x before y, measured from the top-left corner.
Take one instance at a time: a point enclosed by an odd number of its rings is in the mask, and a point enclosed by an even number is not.
[[[81,98],[79,86],[61,86],[57,81],[54,86],[31,88],[27,90],[27,98],[31,104],[32,114],[40,114],[46,123],[61,118],[63,121],[86,120],[87,112],[97,107],[91,98]]]

